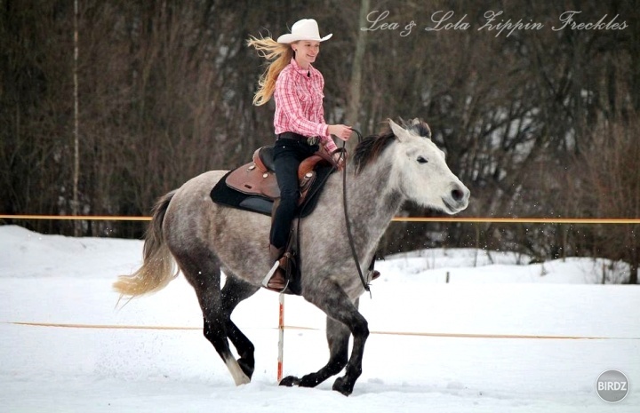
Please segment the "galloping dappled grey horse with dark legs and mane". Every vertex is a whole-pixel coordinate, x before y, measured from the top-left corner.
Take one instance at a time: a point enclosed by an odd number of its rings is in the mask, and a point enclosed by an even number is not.
[[[279,385],[313,387],[344,369],[332,388],[352,393],[369,336],[367,321],[358,312],[359,298],[368,288],[356,273],[354,257],[372,262],[381,236],[406,201],[447,214],[468,206],[470,192],[445,163],[428,124],[418,119],[400,123],[389,119],[388,131],[362,139],[348,156],[346,177],[330,175],[316,209],[294,222],[300,231],[300,295],[326,314],[330,356],[316,372],[284,377]],[[204,172],[159,198],[145,235],[143,264],[133,274],[121,275],[114,288],[121,298],[134,298],[163,289],[181,271],[196,290],[204,337],[236,385],[243,385],[251,381],[254,346],[230,316],[238,303],[260,290],[273,264],[268,252],[271,221],[212,202],[210,191],[226,173]],[[226,275],[222,286],[220,271]],[[371,273],[364,278],[369,282]]]

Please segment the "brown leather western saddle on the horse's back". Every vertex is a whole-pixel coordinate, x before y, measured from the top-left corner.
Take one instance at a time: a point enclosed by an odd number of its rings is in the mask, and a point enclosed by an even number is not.
[[[274,171],[273,146],[260,147],[253,152],[251,163],[231,171],[226,179],[228,187],[246,195],[258,195],[270,200],[280,198],[280,188]],[[299,205],[305,202],[309,188],[316,180],[316,168],[335,165],[331,155],[322,151],[316,152],[300,163],[298,179],[300,180]]]

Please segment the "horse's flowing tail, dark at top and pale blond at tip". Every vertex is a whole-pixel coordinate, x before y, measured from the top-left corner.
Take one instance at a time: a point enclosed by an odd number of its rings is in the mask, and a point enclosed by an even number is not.
[[[178,269],[173,261],[171,251],[164,242],[163,221],[169,203],[176,191],[164,195],[154,206],[153,218],[145,236],[142,266],[131,275],[120,275],[114,282],[114,289],[121,298],[134,298],[164,289],[178,276]]]

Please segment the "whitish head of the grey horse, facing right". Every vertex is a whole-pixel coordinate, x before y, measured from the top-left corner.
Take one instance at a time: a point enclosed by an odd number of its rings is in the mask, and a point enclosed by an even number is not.
[[[428,124],[414,119],[401,127],[389,119],[396,135],[394,167],[397,187],[422,206],[455,214],[467,208],[470,192],[444,160],[444,152],[431,140]]]

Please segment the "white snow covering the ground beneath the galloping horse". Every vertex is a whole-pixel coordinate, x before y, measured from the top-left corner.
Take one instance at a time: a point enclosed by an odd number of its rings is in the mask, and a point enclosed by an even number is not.
[[[640,406],[640,289],[600,282],[626,266],[482,250],[388,257],[361,311],[372,334],[354,393],[276,385],[278,295],[261,290],[234,320],[256,346],[236,386],[201,332],[183,277],[117,303],[111,283],[140,265],[142,242],[0,226],[3,412],[631,412]],[[445,282],[449,273],[450,282]],[[327,360],[324,314],[285,298],[284,375]],[[36,325],[35,325],[36,324]],[[42,325],[45,324],[45,325]],[[160,329],[164,327],[164,329]],[[166,328],[174,328],[172,330]],[[402,333],[402,334],[398,334]],[[628,396],[599,399],[619,369]]]

